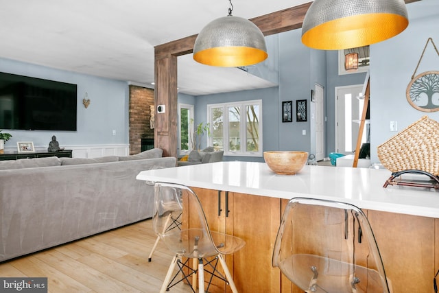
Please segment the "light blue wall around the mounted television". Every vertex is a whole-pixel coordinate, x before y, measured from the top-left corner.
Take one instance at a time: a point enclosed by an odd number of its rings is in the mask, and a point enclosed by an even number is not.
[[[128,144],[129,93],[127,82],[4,58],[0,58],[0,70],[78,85],[77,131],[3,130],[3,132],[12,134],[12,139],[5,143],[5,148],[15,148],[16,141],[33,141],[35,148],[47,148],[52,135],[56,135],[61,147],[64,145]],[[91,100],[88,108],[84,108],[82,104],[85,93]],[[116,135],[112,135],[112,130],[116,130]]]

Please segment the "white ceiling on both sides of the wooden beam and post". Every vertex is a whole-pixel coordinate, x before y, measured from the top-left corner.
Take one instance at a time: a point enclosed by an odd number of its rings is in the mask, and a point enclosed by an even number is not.
[[[251,19],[309,1],[235,0],[233,15]],[[152,87],[154,46],[198,34],[229,6],[227,0],[0,0],[0,57]],[[239,69],[178,58],[182,93],[268,86]]]

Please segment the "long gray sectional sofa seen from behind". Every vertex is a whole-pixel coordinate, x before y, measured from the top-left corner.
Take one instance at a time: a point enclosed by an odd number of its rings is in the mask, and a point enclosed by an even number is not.
[[[162,154],[0,161],[0,262],[151,218],[154,189],[136,176],[176,166]]]

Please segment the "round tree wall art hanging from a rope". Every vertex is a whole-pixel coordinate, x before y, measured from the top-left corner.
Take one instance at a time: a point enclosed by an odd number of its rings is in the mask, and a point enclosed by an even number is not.
[[[430,41],[439,56],[439,51],[436,49],[433,39],[429,38],[406,91],[407,101],[410,105],[423,112],[439,110],[439,71],[426,71],[416,75],[416,77],[414,76]]]

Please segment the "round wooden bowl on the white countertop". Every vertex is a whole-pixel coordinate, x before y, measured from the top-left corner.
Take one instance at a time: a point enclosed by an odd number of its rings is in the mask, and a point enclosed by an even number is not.
[[[299,151],[263,152],[263,159],[276,174],[294,175],[307,163],[308,153]]]

